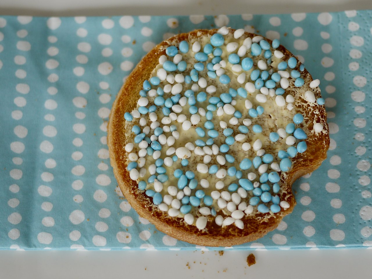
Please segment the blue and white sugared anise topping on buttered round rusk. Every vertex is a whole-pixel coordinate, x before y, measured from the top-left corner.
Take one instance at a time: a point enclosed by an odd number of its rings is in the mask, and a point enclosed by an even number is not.
[[[165,49],[125,112],[128,171],[171,217],[199,230],[208,221],[244,228],[246,215],[286,210],[281,179],[307,149],[307,115],[324,104],[319,80],[262,36],[222,27]],[[300,98],[301,97],[301,98]]]

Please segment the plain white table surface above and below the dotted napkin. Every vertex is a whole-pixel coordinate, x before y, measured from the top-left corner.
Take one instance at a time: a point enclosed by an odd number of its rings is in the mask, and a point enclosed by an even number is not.
[[[371,0],[1,0],[0,15],[109,16],[331,12]],[[248,254],[257,263],[248,267]],[[0,251],[12,278],[371,278],[372,249],[294,251]]]

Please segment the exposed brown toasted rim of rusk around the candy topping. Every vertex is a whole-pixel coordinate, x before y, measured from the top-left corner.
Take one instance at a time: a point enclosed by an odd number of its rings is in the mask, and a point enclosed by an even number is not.
[[[322,161],[327,157],[326,153],[330,140],[324,106],[310,105],[305,100],[303,102],[295,102],[294,109],[306,115],[304,121],[308,126],[308,131],[306,131],[308,138],[306,140],[307,150],[304,153],[298,153],[295,158],[292,158],[292,168],[280,175],[280,200],[288,202],[289,208],[282,209],[279,213],[275,214],[271,213],[271,211],[267,214],[254,211],[254,214],[245,215],[241,219],[244,222],[243,230],[234,224],[219,227],[215,224],[214,217],[211,215],[208,217],[205,229],[199,230],[195,225],[186,224],[183,218],[170,217],[167,212],[160,211],[152,203],[152,198],[147,197],[144,191],[138,190],[137,182],[130,179],[129,171],[126,170],[128,153],[125,151],[125,145],[128,142],[132,142],[134,137],[126,137],[124,112],[131,112],[136,108],[139,98],[138,93],[142,89],[143,82],[149,79],[151,72],[158,65],[158,58],[165,54],[165,49],[168,46],[178,46],[181,41],[190,41],[201,36],[211,36],[216,32],[217,29],[195,30],[190,33],[176,35],[167,41],[161,42],[140,61],[126,79],[125,84],[113,103],[108,124],[108,147],[113,172],[123,195],[135,211],[141,217],[148,219],[148,221],[154,224],[157,230],[178,240],[192,244],[202,246],[232,246],[263,237],[267,232],[274,230],[285,215],[293,211],[296,201],[292,193],[292,184],[299,177],[314,171],[321,165]],[[234,30],[230,29],[230,32],[234,32]],[[244,38],[253,38],[257,35],[244,33],[243,36]],[[269,39],[266,40],[271,43]],[[285,61],[293,56],[282,45],[277,49],[283,52],[283,60]],[[294,70],[299,70],[299,65]],[[300,96],[303,96],[306,90],[314,92],[316,98],[321,97],[318,87],[315,89],[308,87],[308,84],[312,81],[312,77],[307,70],[301,73],[305,80],[304,86],[307,88],[292,88],[292,95],[294,95],[295,100],[302,100]],[[314,132],[313,124],[316,122],[323,124],[322,132]]]

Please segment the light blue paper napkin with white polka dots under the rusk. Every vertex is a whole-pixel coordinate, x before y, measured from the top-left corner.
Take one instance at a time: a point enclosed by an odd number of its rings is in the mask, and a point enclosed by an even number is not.
[[[157,43],[224,25],[280,39],[321,80],[331,133],[327,160],[293,186],[294,212],[234,248],[372,246],[371,18],[0,17],[0,248],[205,248],[138,217],[116,186],[106,125],[122,82]]]

